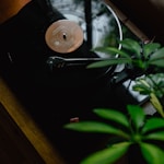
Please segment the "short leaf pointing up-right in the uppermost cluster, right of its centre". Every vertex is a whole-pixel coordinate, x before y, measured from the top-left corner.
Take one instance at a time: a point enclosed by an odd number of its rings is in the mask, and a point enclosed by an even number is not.
[[[161,47],[159,43],[149,43],[143,46],[143,55],[148,58],[152,52],[157,50]]]

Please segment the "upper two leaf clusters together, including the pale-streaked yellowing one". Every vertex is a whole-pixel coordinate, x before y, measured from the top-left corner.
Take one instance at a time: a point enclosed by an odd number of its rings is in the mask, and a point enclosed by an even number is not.
[[[134,80],[132,90],[149,95],[151,104],[164,117],[164,47],[160,43],[144,44],[131,38],[119,40],[119,44],[121,44],[121,49],[116,47],[93,49],[108,54],[109,58],[105,61],[93,62],[87,68],[124,63],[124,71],[128,78]]]

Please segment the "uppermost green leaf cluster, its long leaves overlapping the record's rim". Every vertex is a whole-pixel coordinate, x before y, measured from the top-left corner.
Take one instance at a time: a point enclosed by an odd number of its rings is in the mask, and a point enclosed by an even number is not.
[[[96,47],[93,51],[101,51],[109,55],[104,61],[93,62],[87,68],[101,68],[112,65],[127,65],[130,69],[138,68],[145,72],[150,67],[164,67],[164,47],[160,43],[139,43],[131,38],[118,42],[121,48]]]

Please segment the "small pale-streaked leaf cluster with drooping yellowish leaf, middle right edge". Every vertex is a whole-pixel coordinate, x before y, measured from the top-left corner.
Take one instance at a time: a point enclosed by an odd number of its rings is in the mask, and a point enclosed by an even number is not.
[[[147,74],[134,82],[132,90],[149,95],[156,112],[164,117],[164,73]]]

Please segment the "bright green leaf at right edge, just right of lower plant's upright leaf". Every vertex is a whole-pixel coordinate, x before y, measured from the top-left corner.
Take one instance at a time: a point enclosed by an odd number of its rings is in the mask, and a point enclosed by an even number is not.
[[[164,119],[163,118],[150,118],[144,124],[142,128],[142,132],[148,132],[151,130],[157,130],[159,128],[164,128]]]

